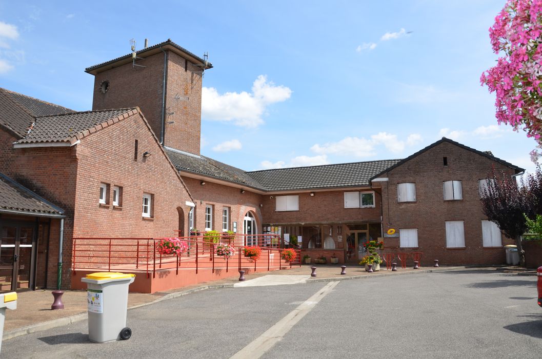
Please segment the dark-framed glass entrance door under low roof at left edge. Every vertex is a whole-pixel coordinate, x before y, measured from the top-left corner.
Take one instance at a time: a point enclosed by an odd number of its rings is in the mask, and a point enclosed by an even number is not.
[[[4,225],[0,234],[0,291],[30,289],[34,226]]]

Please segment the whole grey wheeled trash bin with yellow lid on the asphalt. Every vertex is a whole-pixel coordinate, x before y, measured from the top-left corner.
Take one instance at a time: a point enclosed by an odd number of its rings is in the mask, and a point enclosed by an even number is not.
[[[86,275],[88,338],[96,343],[125,340],[132,330],[126,328],[128,286],[135,275],[118,272],[99,272]]]

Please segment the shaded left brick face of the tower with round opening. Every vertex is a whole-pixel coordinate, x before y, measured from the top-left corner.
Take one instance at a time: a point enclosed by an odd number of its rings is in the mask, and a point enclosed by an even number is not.
[[[139,106],[152,130],[160,139],[164,53],[145,57],[137,63],[146,67],[133,67],[132,63],[127,63],[95,75],[92,110]],[[109,81],[109,89],[106,93],[102,93],[99,88],[104,80]]]

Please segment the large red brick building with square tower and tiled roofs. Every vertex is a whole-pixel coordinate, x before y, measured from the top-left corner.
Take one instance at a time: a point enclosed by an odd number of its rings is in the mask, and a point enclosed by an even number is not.
[[[2,244],[5,286],[56,286],[60,242],[66,286],[73,238],[157,238],[191,228],[278,234],[297,240],[304,254],[340,262],[358,262],[363,242],[377,238],[389,252],[423,252],[422,264],[504,262],[507,240],[484,221],[478,188],[493,168],[522,169],[444,138],[403,160],[234,168],[199,153],[210,68],[167,40],[87,68],[95,76],[92,111],[0,89],[0,172],[48,206],[6,195],[21,202],[8,214],[0,203],[2,243],[24,242],[22,230],[12,229],[21,219],[33,238],[14,252]],[[14,269],[21,250],[31,251],[33,268],[24,285],[13,284],[23,280]]]

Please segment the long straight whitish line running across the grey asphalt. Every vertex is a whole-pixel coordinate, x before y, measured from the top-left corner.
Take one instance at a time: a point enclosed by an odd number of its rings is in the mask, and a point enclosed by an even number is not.
[[[330,293],[339,281],[333,281],[326,284],[322,289],[316,292],[311,298],[301,303],[296,309],[289,312],[284,318],[280,319],[271,328],[266,330],[261,336],[257,337],[246,347],[238,351],[230,359],[257,359],[266,351],[280,341],[289,332],[295,324],[307,315],[317,304]]]

